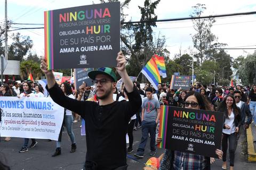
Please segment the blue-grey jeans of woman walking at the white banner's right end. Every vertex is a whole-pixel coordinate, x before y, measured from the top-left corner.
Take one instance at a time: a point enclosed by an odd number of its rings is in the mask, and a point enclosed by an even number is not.
[[[73,115],[65,115],[65,125],[66,125],[66,129],[67,129],[67,132],[68,132],[68,136],[71,140],[71,143],[76,143],[75,135],[72,131],[72,124],[73,124]],[[62,128],[60,130],[59,139],[56,143],[57,148],[61,147],[61,137],[62,137]]]

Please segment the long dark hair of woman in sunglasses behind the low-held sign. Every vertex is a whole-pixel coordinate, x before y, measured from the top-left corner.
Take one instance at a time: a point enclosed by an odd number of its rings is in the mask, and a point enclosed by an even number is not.
[[[200,109],[211,111],[210,103],[207,101],[207,99],[203,95],[199,94],[199,92],[189,91],[185,97],[185,101],[189,96],[193,96],[193,95],[196,97]]]

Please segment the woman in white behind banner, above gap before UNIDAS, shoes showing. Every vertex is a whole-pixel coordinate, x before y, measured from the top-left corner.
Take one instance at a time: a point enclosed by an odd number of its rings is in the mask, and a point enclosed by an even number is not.
[[[35,97],[34,93],[31,90],[31,84],[28,81],[23,82],[23,92],[20,94],[20,96],[17,97]],[[32,143],[29,146],[29,148],[34,148],[37,145],[37,141],[35,139],[31,139]],[[24,144],[23,147],[20,149],[20,153],[28,151],[28,142],[29,138],[24,138]]]

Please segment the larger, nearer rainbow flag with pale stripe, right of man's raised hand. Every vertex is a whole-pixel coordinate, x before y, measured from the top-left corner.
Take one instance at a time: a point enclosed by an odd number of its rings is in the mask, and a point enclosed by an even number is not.
[[[157,89],[158,83],[161,83],[161,78],[154,57],[143,67],[141,73],[144,74],[153,87]]]

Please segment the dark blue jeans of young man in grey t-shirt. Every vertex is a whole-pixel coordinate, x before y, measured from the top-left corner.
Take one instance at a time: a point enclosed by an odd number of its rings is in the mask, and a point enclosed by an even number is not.
[[[146,122],[142,121],[142,137],[139,148],[137,152],[139,154],[144,154],[145,147],[147,145],[148,133],[150,134],[150,150],[156,150],[155,142],[156,142],[156,122]]]

